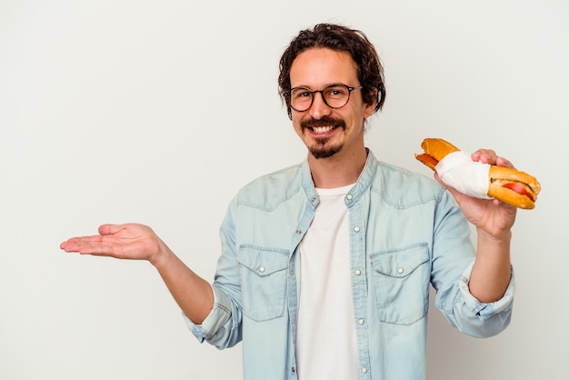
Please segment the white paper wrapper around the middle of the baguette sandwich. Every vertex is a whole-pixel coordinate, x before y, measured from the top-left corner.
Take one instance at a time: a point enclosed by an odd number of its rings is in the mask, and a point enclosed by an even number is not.
[[[492,199],[488,196],[490,165],[475,162],[463,151],[453,152],[439,161],[434,170],[446,185],[465,195]]]

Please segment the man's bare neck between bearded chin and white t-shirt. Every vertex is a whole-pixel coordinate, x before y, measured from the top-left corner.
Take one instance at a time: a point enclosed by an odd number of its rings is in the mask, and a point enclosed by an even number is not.
[[[338,152],[328,158],[314,158],[308,155],[308,165],[314,186],[318,188],[334,188],[354,184],[364,170],[367,150],[359,149],[349,155]]]

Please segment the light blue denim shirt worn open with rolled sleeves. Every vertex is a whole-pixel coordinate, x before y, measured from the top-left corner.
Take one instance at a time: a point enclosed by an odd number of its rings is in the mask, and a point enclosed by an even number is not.
[[[228,207],[214,307],[201,325],[185,321],[200,342],[243,342],[245,380],[297,378],[299,243],[318,201],[304,161],[245,185]],[[430,285],[434,305],[465,334],[491,336],[509,325],[514,277],[495,303],[469,293],[470,226],[443,186],[369,152],[344,201],[361,380],[424,378]]]

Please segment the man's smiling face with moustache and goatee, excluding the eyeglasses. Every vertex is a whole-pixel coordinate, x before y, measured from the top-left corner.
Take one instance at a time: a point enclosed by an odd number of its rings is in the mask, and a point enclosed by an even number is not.
[[[346,52],[326,48],[309,49],[298,55],[291,66],[291,87],[321,90],[326,85],[360,85],[352,57]],[[331,108],[320,93],[304,112],[292,110],[294,130],[314,158],[351,156],[364,149],[364,119],[372,115],[374,104],[365,105],[362,90],[354,90],[342,108]]]

